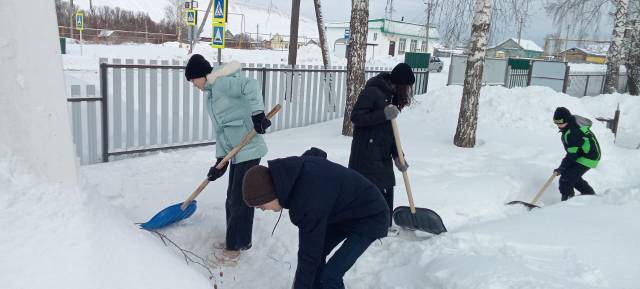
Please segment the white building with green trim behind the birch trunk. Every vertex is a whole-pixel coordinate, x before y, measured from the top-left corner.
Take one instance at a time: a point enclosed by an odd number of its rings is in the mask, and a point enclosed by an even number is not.
[[[347,40],[345,31],[349,30],[349,22],[328,23],[327,44],[333,54],[338,57],[346,56]],[[369,33],[367,35],[367,59],[382,55],[402,55],[405,52],[426,51],[426,27],[422,24],[402,22],[389,19],[369,19]],[[429,53],[438,43],[438,31],[429,29]]]

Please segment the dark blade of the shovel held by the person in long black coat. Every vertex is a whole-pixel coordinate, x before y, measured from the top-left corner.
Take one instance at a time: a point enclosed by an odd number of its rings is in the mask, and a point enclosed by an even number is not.
[[[429,209],[416,208],[416,213],[411,213],[411,208],[400,206],[393,210],[393,222],[396,225],[408,229],[418,230],[438,235],[447,231],[442,223],[442,218]]]

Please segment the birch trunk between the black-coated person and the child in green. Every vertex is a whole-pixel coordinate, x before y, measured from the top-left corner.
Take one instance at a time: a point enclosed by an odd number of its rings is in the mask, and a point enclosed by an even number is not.
[[[482,70],[487,49],[491,0],[476,0],[475,16],[471,27],[471,48],[465,71],[458,127],[453,143],[458,147],[471,148],[476,144],[478,105],[482,87]]]

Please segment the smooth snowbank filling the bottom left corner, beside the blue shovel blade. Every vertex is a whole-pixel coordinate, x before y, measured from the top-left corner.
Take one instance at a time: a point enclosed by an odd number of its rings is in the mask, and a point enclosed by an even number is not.
[[[210,288],[95,193],[41,182],[0,147],[2,288]]]

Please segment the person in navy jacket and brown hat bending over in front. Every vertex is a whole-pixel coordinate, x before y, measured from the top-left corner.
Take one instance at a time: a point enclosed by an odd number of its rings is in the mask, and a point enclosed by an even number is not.
[[[389,209],[365,177],[312,148],[256,166],[243,181],[247,205],[289,209],[299,229],[295,289],[344,288],[342,277],[376,239],[387,235]],[[326,260],[340,242],[342,246]]]

